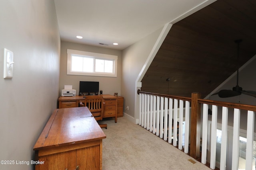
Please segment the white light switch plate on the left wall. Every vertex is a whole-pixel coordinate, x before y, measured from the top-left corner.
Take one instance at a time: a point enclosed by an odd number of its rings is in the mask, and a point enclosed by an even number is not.
[[[12,78],[13,64],[12,51],[4,49],[4,78]]]

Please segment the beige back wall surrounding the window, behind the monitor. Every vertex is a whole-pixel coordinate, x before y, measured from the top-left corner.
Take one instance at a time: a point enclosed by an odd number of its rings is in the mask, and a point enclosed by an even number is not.
[[[117,77],[67,75],[67,49],[118,56]],[[120,50],[107,49],[103,47],[96,47],[96,46],[61,41],[60,94],[61,94],[61,90],[64,89],[64,85],[72,85],[73,89],[76,90],[76,94],[78,95],[80,81],[97,81],[99,82],[99,88],[100,90],[103,91],[103,94],[114,95],[114,93],[118,93],[118,96],[122,96],[121,94],[122,64],[121,63],[122,63],[122,51]]]

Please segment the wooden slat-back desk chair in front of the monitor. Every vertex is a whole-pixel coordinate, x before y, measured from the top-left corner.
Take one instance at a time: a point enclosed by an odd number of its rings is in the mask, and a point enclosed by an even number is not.
[[[80,102],[80,107],[87,106],[90,112],[92,113],[93,117],[96,121],[102,120],[103,111],[104,111],[104,102],[102,100],[102,96],[100,95],[93,95],[93,96],[86,96],[84,98],[84,104]],[[105,127],[107,129],[107,124],[99,124],[100,127]]]

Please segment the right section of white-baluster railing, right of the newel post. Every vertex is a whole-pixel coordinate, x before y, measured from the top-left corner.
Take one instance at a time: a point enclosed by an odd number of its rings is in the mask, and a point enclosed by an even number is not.
[[[203,131],[202,131],[202,158],[201,162],[206,164],[207,156],[207,137],[208,137],[208,104],[203,104]],[[206,102],[207,103],[207,102]],[[213,102],[212,102],[213,103]],[[225,106],[221,106],[225,105]],[[253,162],[253,141],[254,141],[254,116],[255,112],[248,109],[255,110],[255,106],[230,104],[223,102],[218,106],[222,107],[222,134],[221,134],[221,150],[220,150],[220,170],[226,170],[226,158],[227,158],[227,139],[228,139],[228,108],[234,108],[234,124],[233,124],[233,140],[232,140],[232,170],[238,169],[239,158],[239,137],[240,137],[240,109],[241,107],[247,110],[247,142],[246,142],[246,170],[252,169]],[[232,106],[232,107],[228,107]],[[217,130],[217,109],[216,105],[212,105],[212,127],[211,127],[211,147],[210,147],[210,168],[215,169],[216,165],[216,130]]]

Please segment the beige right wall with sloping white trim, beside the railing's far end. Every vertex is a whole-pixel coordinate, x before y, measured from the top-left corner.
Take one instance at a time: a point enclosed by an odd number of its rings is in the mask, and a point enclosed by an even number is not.
[[[124,96],[124,108],[129,106],[129,110],[125,109],[124,113],[125,115],[128,115],[134,123],[136,123],[136,119],[138,119],[138,95],[136,94],[136,91],[139,89],[139,86],[137,83],[142,80],[172,24],[215,1],[216,0],[206,0],[202,2],[202,4],[184,12],[184,14],[170,21],[170,23],[166,23],[162,28],[122,51],[121,92],[122,96]]]

